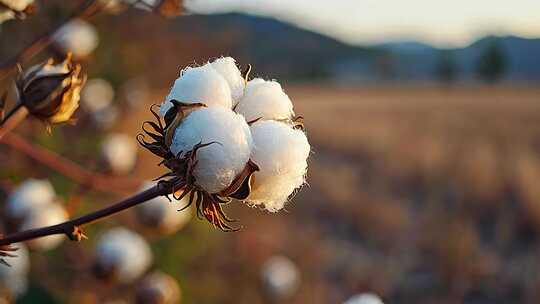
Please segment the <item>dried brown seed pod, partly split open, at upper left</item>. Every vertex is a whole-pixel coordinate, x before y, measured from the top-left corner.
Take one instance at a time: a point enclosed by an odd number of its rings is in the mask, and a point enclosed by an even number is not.
[[[18,102],[48,124],[66,122],[79,107],[85,80],[81,66],[72,61],[71,55],[56,64],[49,59],[19,75]]]

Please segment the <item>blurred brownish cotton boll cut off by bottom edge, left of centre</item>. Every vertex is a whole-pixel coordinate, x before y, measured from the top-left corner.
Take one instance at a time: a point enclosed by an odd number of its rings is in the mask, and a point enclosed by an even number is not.
[[[157,271],[139,283],[135,294],[137,304],[177,304],[181,297],[178,282],[170,275]]]

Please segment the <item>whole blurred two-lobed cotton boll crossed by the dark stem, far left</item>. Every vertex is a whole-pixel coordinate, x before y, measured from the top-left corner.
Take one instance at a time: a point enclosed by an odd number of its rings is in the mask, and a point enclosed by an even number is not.
[[[68,219],[65,208],[47,180],[28,179],[7,198],[5,215],[18,231],[50,226]],[[30,249],[46,251],[56,248],[64,238],[61,235],[29,240]]]

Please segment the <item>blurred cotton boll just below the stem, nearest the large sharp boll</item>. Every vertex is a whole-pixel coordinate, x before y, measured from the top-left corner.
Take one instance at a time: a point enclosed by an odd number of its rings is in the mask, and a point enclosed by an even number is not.
[[[153,187],[155,182],[146,182],[141,191]],[[182,229],[193,217],[191,208],[178,211],[188,203],[188,196],[180,201],[169,201],[159,196],[135,207],[137,223],[144,229],[162,234],[175,233]]]

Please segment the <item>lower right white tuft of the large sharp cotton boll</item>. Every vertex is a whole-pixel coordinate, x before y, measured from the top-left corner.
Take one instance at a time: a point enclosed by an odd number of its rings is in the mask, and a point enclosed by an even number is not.
[[[273,120],[254,123],[251,135],[251,160],[260,171],[253,175],[247,201],[263,204],[267,210],[275,212],[304,184],[310,145],[304,132]]]

